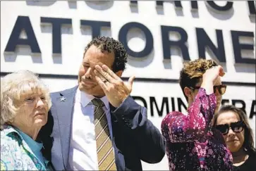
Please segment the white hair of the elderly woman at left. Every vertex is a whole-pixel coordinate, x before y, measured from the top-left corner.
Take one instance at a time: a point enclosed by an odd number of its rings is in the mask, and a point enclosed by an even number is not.
[[[20,109],[21,97],[30,94],[42,92],[47,101],[48,110],[51,108],[51,97],[48,87],[39,80],[34,72],[29,70],[20,70],[13,72],[1,78],[1,122],[3,129],[6,123],[15,118]],[[48,112],[48,111],[47,111]]]

